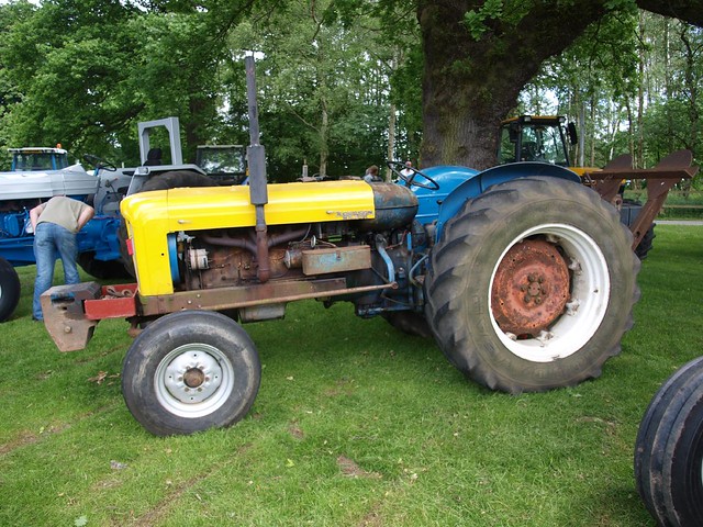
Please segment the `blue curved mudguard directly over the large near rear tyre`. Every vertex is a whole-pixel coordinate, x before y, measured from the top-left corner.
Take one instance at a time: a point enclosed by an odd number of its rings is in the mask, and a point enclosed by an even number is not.
[[[467,200],[482,194],[494,184],[528,176],[548,176],[577,183],[581,182],[580,178],[571,170],[547,162],[513,162],[477,172],[455,188],[439,204],[435,239],[439,239],[444,224],[459,212]]]

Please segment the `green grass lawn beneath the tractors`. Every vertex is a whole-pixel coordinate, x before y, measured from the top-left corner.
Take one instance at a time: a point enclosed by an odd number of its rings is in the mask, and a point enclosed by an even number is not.
[[[659,225],[636,325],[600,379],[512,396],[350,305],[246,325],[261,389],[236,426],[158,438],[127,412],[126,323],[59,354],[0,326],[2,526],[654,526],[633,448],[657,388],[703,355],[703,227]]]

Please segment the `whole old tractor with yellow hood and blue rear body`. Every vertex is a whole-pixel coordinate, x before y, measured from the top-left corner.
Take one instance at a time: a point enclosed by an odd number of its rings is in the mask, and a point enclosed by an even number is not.
[[[260,381],[245,323],[289,302],[352,302],[361,317],[433,335],[470,379],[510,393],[601,373],[633,325],[639,260],[617,211],[572,171],[521,162],[438,166],[395,183],[267,184],[247,57],[247,186],[138,192],[122,201],[137,282],[57,287],[42,298],[63,351],[99,321],[136,338],[122,371],[156,435],[224,427]]]

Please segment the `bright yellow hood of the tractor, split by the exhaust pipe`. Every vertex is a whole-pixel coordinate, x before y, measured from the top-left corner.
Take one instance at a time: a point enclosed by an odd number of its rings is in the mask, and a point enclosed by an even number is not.
[[[256,225],[246,186],[143,192],[122,200],[120,210],[132,239],[142,295],[174,292],[169,234]],[[269,184],[265,213],[267,225],[371,220],[373,191],[364,181]]]

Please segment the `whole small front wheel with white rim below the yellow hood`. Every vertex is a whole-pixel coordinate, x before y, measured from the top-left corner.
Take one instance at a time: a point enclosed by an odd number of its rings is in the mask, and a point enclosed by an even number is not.
[[[152,434],[192,434],[241,421],[260,379],[258,352],[242,326],[220,313],[183,311],[158,318],[134,340],[122,394]]]

